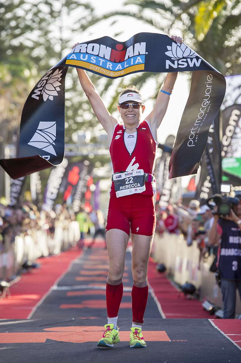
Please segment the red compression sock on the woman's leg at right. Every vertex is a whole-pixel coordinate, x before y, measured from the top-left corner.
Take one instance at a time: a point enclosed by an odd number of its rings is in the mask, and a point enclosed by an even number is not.
[[[143,323],[145,307],[147,306],[148,286],[137,287],[133,285],[131,291],[132,315],[135,323]]]

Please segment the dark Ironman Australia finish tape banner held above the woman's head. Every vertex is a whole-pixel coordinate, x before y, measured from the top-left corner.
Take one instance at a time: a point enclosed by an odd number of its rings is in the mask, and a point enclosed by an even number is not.
[[[191,71],[190,94],[170,158],[169,178],[197,172],[208,130],[224,98],[225,78],[185,43],[163,34],[138,33],[126,42],[102,37],[81,43],[39,80],[22,111],[20,158],[0,160],[12,178],[62,162],[64,82],[69,66],[107,78]]]

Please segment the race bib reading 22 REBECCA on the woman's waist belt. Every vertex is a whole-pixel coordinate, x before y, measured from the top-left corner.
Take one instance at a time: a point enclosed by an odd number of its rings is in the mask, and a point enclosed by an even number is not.
[[[145,191],[145,181],[152,182],[154,176],[144,173],[143,169],[134,171],[123,171],[113,174],[115,194],[118,197],[142,193]]]

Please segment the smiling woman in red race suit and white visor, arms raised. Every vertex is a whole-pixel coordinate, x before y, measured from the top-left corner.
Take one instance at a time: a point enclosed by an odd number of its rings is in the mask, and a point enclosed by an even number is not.
[[[182,42],[181,37],[172,36]],[[75,48],[77,44],[73,46]],[[147,265],[156,227],[153,195],[155,194],[154,164],[157,148],[157,129],[166,113],[177,72],[168,73],[152,112],[141,122],[144,99],[132,86],[119,97],[120,124],[106,109],[86,72],[77,69],[81,86],[93,111],[107,132],[114,174],[106,224],[106,243],[110,259],[106,283],[108,322],[98,341],[100,347],[118,343],[117,315],[123,295],[122,276],[126,248],[131,228],[132,241],[132,327],[130,347],[146,347],[141,324],[148,297]]]

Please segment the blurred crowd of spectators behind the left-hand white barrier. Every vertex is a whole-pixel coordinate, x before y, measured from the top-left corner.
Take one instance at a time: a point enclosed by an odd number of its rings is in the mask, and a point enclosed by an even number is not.
[[[75,213],[66,205],[57,204],[53,210],[38,209],[36,205],[26,202],[14,207],[0,204],[0,253],[6,243],[13,243],[17,235],[30,235],[42,229],[54,238],[58,223],[67,228],[71,221],[78,221],[80,228],[79,246],[84,246],[87,236],[92,238],[89,247],[93,246],[96,237],[105,238],[105,220],[103,213],[98,210],[86,210],[81,205],[79,212]]]

